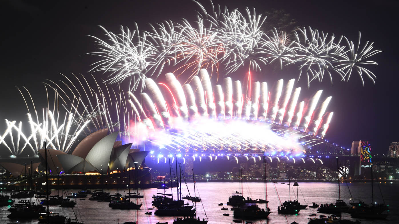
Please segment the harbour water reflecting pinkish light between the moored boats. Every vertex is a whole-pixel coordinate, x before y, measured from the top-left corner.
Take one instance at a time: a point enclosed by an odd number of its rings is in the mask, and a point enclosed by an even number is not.
[[[317,213],[317,209],[306,208],[300,210],[297,215],[283,215],[277,213],[277,207],[280,203],[285,200],[289,200],[289,188],[291,187],[291,199],[296,200],[296,187],[285,184],[267,183],[267,199],[269,200],[269,208],[271,209],[271,214],[267,220],[251,220],[253,223],[269,223],[269,224],[284,224],[291,222],[297,222],[299,224],[307,224],[309,214]],[[233,211],[221,210],[222,207],[231,208],[227,206],[231,193],[239,191],[243,193],[245,198],[250,197],[252,199],[262,198],[265,199],[265,184],[261,182],[207,182],[207,183],[197,183],[198,191],[197,196],[200,196],[202,201],[197,202],[197,216],[209,219],[208,224],[229,224],[233,222]],[[349,187],[349,188],[348,188]],[[354,199],[363,199],[365,203],[371,204],[371,184],[369,182],[357,182],[348,183],[348,187],[345,183],[341,184],[341,199],[343,199],[347,204],[350,201],[350,193]],[[188,190],[185,184],[182,184],[182,195],[187,195]],[[193,184],[188,183],[188,189],[191,195],[194,195]],[[380,193],[380,189],[382,192]],[[363,220],[362,224],[388,224],[397,223],[399,220],[399,183],[398,182],[381,182],[374,184],[374,201],[377,203],[383,203],[385,200],[386,204],[389,204],[389,216],[386,220]],[[350,192],[349,192],[350,190]],[[70,192],[70,190],[68,190]],[[76,192],[77,190],[73,190]],[[107,190],[106,190],[107,191]],[[117,189],[110,189],[111,194],[116,193]],[[117,210],[111,209],[108,206],[108,202],[97,202],[95,200],[79,200],[77,198],[77,216],[79,220],[83,220],[85,224],[115,224],[123,223],[128,221],[137,222],[137,224],[156,224],[157,222],[168,222],[168,224],[173,223],[173,216],[156,216],[154,214],[147,215],[144,214],[146,211],[155,212],[154,210],[147,210],[147,208],[152,208],[152,196],[156,193],[164,193],[164,190],[158,189],[139,189],[140,193],[144,194],[144,198],[134,199],[138,203],[143,203],[140,210]],[[124,192],[127,193],[126,189],[119,189],[119,193],[122,195]],[[56,195],[57,191],[53,190],[52,195]],[[170,193],[170,190],[166,190],[166,193]],[[176,197],[176,189],[174,188],[174,197]],[[312,183],[312,182],[299,182],[298,187],[298,200],[301,204],[311,205],[312,202],[318,204],[321,203],[334,203],[338,199],[338,184],[337,183]],[[34,199],[36,201],[36,199]],[[18,202],[19,199],[16,199]],[[189,201],[190,202],[190,201]],[[191,203],[191,202],[190,202]],[[217,204],[223,203],[223,206],[218,206]],[[260,208],[265,208],[266,204],[258,204]],[[20,223],[20,224],[37,224],[37,219],[34,220],[19,220],[19,219],[9,219],[6,216],[10,213],[7,211],[8,206],[0,207],[0,223]],[[205,208],[205,211],[204,211]],[[59,212],[68,217],[75,217],[71,208],[64,208],[59,206],[50,206],[50,210],[53,212]],[[229,213],[230,216],[223,216],[223,213]],[[320,215],[320,214],[318,214]],[[326,214],[324,214],[326,215]],[[342,218],[355,220],[350,217],[348,213],[342,213]],[[243,222],[245,223],[245,222]]]

